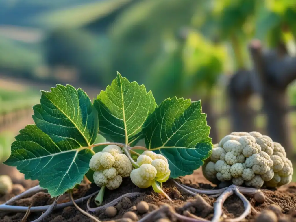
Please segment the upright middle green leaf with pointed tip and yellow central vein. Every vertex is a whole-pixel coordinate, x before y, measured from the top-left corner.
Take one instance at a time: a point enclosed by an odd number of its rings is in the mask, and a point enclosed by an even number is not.
[[[99,132],[113,141],[129,144],[143,137],[142,126],[156,103],[144,85],[130,83],[118,73],[112,84],[97,96],[94,107],[98,111]]]

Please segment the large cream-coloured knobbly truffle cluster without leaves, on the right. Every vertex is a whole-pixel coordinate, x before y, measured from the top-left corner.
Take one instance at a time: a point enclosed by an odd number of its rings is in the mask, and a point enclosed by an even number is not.
[[[277,187],[292,180],[293,167],[284,147],[259,132],[233,132],[215,144],[202,167],[214,184],[232,181],[241,186]]]

